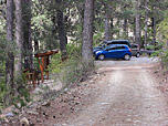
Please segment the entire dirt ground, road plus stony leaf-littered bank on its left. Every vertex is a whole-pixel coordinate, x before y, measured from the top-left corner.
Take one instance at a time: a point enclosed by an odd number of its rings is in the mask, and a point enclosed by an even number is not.
[[[95,64],[96,74],[78,86],[3,125],[168,126],[168,76],[157,59]]]

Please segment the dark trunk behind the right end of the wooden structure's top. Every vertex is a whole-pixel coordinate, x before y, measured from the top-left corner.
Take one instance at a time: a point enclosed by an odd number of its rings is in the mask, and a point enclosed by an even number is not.
[[[60,49],[62,52],[62,56],[65,56],[67,38],[66,38],[65,27],[64,27],[64,17],[61,10],[57,10],[57,29],[59,29]]]

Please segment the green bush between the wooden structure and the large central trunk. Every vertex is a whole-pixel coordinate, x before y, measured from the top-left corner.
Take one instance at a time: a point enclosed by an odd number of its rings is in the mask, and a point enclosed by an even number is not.
[[[61,53],[55,54],[49,66],[49,71],[53,73],[53,78],[56,78],[62,82],[63,86],[66,87],[73,83],[78,82],[80,80],[86,76],[86,73],[92,71],[93,67],[84,64],[82,62],[81,55],[78,53],[78,48],[69,48],[69,59],[66,61],[61,60]]]

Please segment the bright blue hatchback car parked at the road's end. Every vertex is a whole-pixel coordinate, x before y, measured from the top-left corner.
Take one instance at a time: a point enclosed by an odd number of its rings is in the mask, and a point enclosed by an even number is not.
[[[103,61],[104,59],[124,59],[126,61],[132,57],[132,50],[126,44],[112,44],[103,50],[94,52],[95,59]]]

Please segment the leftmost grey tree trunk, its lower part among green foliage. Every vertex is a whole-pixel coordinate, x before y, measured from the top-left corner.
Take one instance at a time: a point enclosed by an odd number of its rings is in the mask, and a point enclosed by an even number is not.
[[[13,0],[7,0],[7,41],[13,41]],[[6,87],[7,91],[10,92],[11,88],[14,87],[13,85],[13,66],[14,66],[14,56],[13,52],[9,49],[7,50],[6,56]],[[6,96],[6,104],[9,105],[11,103],[10,95]]]

